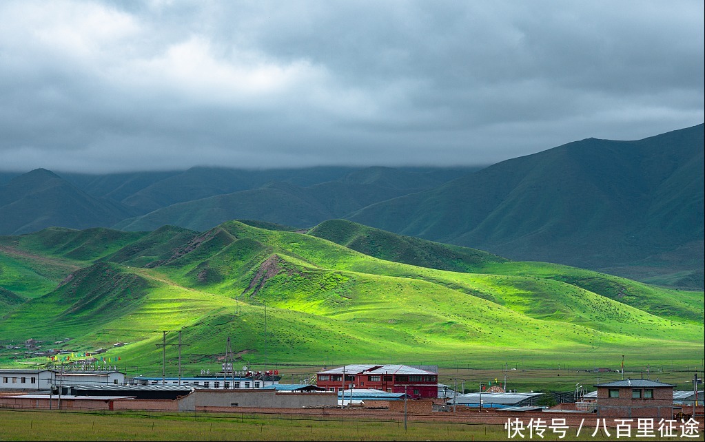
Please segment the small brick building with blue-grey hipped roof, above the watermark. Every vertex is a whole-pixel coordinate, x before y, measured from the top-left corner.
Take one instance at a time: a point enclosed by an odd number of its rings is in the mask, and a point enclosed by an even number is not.
[[[625,379],[598,384],[599,417],[673,419],[673,385],[649,379]]]

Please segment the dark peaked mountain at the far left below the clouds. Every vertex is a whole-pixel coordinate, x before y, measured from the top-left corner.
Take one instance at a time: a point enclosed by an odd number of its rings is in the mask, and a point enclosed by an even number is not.
[[[23,234],[50,226],[78,229],[113,225],[134,212],[94,198],[49,170],[36,169],[0,187],[0,234]]]

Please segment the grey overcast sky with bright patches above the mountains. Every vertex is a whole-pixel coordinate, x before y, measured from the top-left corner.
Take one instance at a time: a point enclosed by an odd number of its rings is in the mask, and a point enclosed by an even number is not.
[[[0,1],[0,170],[486,165],[704,121],[704,2]]]

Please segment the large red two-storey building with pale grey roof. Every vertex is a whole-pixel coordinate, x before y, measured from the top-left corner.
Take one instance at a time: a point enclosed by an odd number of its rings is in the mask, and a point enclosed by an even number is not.
[[[343,377],[345,386],[343,387]],[[407,393],[410,398],[436,398],[438,373],[407,365],[345,365],[317,374],[317,386],[327,391],[375,389]]]

